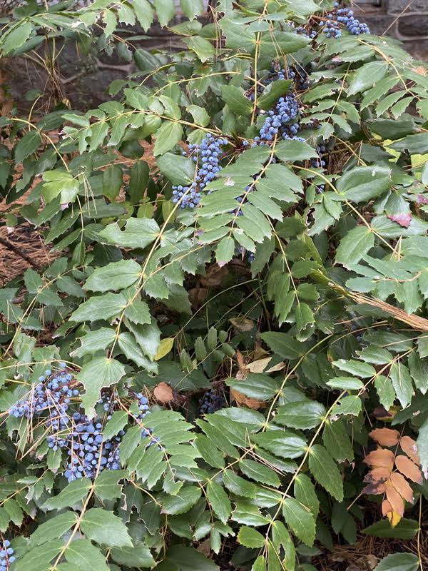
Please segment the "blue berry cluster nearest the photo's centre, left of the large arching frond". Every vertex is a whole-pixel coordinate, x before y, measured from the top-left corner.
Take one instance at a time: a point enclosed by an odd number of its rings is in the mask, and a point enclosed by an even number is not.
[[[221,170],[222,146],[227,144],[227,139],[208,133],[200,145],[189,145],[188,151],[183,151],[183,156],[191,156],[193,162],[197,163],[198,169],[195,181],[190,186],[173,186],[173,203],[180,201],[181,208],[195,208],[199,204],[200,191],[213,181]]]

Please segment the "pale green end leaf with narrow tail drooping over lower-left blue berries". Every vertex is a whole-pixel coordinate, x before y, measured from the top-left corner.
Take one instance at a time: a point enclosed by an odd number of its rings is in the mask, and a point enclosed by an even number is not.
[[[118,383],[123,375],[125,375],[125,367],[116,359],[99,357],[83,365],[77,375],[77,380],[85,388],[85,394],[81,400],[88,418],[95,416],[94,407],[100,398],[101,389]]]

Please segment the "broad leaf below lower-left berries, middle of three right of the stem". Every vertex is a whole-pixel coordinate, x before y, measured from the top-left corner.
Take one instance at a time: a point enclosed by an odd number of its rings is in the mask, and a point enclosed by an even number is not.
[[[131,537],[121,518],[102,507],[93,507],[85,512],[80,527],[88,539],[100,545],[132,547]]]

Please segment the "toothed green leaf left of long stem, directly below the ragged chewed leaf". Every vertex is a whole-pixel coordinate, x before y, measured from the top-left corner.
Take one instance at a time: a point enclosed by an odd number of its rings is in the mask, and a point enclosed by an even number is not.
[[[134,260],[121,260],[96,268],[85,282],[91,291],[117,291],[128,288],[141,277],[141,266]]]

